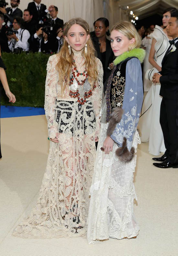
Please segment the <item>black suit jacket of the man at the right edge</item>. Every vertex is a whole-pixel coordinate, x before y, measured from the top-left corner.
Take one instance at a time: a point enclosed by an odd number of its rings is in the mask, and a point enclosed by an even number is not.
[[[159,72],[160,95],[166,99],[178,99],[178,42],[174,52],[166,52],[162,60],[162,70]]]

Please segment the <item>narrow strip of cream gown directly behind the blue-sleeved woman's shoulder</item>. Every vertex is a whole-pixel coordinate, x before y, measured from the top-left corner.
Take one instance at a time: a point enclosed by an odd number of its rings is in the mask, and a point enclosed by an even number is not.
[[[144,63],[143,63],[143,87],[144,87],[144,92],[148,92],[151,85],[152,85],[152,82],[150,80],[146,79],[146,77],[145,77],[145,74],[146,74],[147,70],[153,68],[153,66],[150,64],[150,62],[148,60],[149,59],[149,54],[150,54],[150,49],[151,49],[151,43],[152,43],[152,38],[145,37],[142,40],[142,45],[144,46],[145,52],[146,52]]]

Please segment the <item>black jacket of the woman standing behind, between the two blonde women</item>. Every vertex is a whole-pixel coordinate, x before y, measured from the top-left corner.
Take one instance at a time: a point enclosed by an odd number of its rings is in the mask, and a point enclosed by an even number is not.
[[[95,46],[97,58],[101,60],[101,52],[100,52],[98,38],[93,37],[92,41]],[[108,66],[110,63],[113,62],[113,58],[114,58],[114,53],[111,48],[111,42],[108,39],[106,39],[106,60],[105,60],[105,65],[103,66],[103,70],[104,70],[104,81],[103,82],[105,82],[106,79],[110,76],[111,70],[108,69]]]

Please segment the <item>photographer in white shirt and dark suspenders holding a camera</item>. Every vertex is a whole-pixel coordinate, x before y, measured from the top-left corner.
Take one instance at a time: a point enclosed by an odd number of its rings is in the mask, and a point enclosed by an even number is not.
[[[24,20],[21,17],[15,17],[13,22],[13,30],[8,29],[6,32],[8,38],[8,46],[11,52],[20,53],[29,50],[28,39],[30,33],[27,29],[23,29]]]

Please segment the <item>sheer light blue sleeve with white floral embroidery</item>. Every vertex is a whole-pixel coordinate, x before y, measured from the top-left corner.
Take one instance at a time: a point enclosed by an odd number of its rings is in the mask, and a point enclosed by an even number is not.
[[[137,130],[142,102],[143,82],[141,64],[139,59],[132,58],[126,65],[126,85],[122,106],[124,113],[111,135],[111,138],[119,147],[122,146],[125,137],[129,151],[132,147],[135,131]]]

